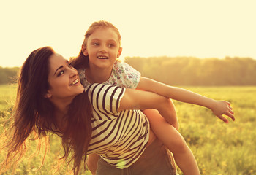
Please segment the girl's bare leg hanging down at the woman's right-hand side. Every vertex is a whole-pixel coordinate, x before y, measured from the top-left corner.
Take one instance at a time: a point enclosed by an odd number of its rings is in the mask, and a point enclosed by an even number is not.
[[[178,167],[185,175],[200,174],[194,155],[186,144],[183,136],[155,109],[143,111],[148,117],[152,130],[157,138],[165,144],[176,160]]]

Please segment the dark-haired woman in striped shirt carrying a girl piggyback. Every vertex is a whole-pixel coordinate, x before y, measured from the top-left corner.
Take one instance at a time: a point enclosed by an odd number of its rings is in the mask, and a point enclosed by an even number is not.
[[[5,166],[11,160],[18,163],[26,139],[35,131],[39,138],[61,136],[63,158],[72,152],[74,174],[91,153],[101,155],[97,174],[176,174],[145,115],[135,110],[154,108],[164,117],[175,112],[166,106],[169,99],[146,91],[102,84],[85,91],[67,60],[51,47],[39,48],[20,70]],[[176,139],[184,141],[182,136]]]

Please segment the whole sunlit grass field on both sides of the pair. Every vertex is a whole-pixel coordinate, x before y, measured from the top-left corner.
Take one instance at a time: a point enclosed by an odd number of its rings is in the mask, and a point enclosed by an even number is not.
[[[0,133],[3,121],[9,117],[15,100],[15,85],[0,85]],[[217,100],[230,101],[236,121],[223,123],[209,109],[174,101],[180,132],[197,159],[201,174],[249,175],[256,174],[256,87],[183,87]],[[9,109],[9,110],[8,110]],[[31,151],[26,154],[15,174],[52,174],[56,168],[56,152],[60,140],[50,137],[50,150],[40,171],[42,155],[29,159],[36,149],[31,141]],[[4,160],[4,152],[0,161]],[[28,164],[30,162],[30,167]],[[67,174],[66,164],[56,174]],[[178,170],[179,171],[179,170]],[[6,174],[11,174],[7,171]],[[80,174],[90,174],[83,171]],[[179,174],[182,174],[179,171]]]

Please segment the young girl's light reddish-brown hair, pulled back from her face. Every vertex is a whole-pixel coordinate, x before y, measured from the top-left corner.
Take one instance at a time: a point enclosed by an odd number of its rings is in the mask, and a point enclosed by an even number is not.
[[[83,40],[83,44],[82,44],[83,46],[86,47],[89,36],[91,36],[91,34],[93,34],[97,28],[112,28],[118,36],[118,42],[119,42],[118,44],[120,46],[121,35],[120,35],[120,32],[118,31],[118,28],[116,28],[116,26],[113,26],[112,23],[105,20],[96,21],[92,23],[91,26],[89,26],[88,30],[86,31],[85,38]],[[71,58],[70,62],[72,63],[72,66],[75,67],[75,69],[83,69],[83,68],[89,67],[89,57],[88,55],[87,56],[83,55],[82,48],[79,52],[79,55],[75,58]]]

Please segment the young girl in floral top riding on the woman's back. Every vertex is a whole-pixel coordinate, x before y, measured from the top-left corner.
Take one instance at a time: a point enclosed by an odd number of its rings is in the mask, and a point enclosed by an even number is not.
[[[86,31],[80,54],[72,61],[72,65],[79,71],[84,87],[94,82],[105,82],[125,88],[151,91],[167,98],[205,106],[226,123],[228,123],[228,120],[222,114],[234,120],[232,108],[227,101],[215,101],[197,93],[192,93],[189,90],[171,87],[153,79],[140,77],[138,71],[132,69],[127,63],[118,61],[122,52],[120,42],[121,36],[118,29],[111,23],[99,21],[91,24],[88,31]],[[186,175],[200,174],[195,158],[186,143],[184,141],[176,141],[176,137],[179,134],[176,131],[178,129],[176,116],[166,117],[164,120],[155,111],[145,110],[144,114],[148,117],[151,128],[157,137],[170,149],[170,152],[173,152],[181,171]],[[91,166],[90,169],[94,173],[97,166],[90,162],[90,159],[97,160],[97,157],[95,155],[91,155],[91,158],[89,157],[89,168]]]

